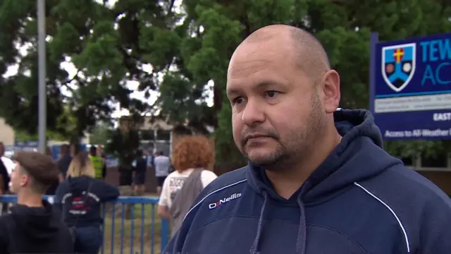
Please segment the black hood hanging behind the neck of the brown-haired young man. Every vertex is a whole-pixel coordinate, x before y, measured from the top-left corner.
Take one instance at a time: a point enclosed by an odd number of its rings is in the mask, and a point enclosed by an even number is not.
[[[49,202],[44,201],[43,207],[27,207],[14,205],[11,215],[16,225],[25,232],[27,238],[35,241],[54,238],[61,227],[61,217],[54,212]]]

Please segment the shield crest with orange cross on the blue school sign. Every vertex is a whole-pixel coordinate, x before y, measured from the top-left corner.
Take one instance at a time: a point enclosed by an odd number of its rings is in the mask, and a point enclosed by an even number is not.
[[[400,44],[382,48],[382,76],[395,92],[401,92],[415,73],[416,44]]]

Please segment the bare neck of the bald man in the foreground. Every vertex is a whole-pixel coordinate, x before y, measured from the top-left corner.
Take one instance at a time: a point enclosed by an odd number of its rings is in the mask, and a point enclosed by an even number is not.
[[[286,170],[266,170],[266,176],[281,197],[290,198],[323,163],[341,140],[341,136],[335,128],[322,136],[323,138],[316,140],[315,146],[309,149],[309,155],[302,157],[302,161],[292,164]]]

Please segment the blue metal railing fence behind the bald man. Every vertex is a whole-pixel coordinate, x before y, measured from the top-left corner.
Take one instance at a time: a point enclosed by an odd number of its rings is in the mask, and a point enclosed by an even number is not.
[[[52,202],[53,197],[44,196],[44,200]],[[16,195],[2,195],[0,202],[17,202],[17,198]],[[166,219],[157,219],[157,205],[158,198],[123,196],[104,205],[101,253],[163,253],[169,241],[169,224]]]

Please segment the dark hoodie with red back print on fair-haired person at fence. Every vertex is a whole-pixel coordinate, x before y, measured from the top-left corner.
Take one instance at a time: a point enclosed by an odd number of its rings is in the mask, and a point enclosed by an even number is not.
[[[91,184],[91,189],[85,196]],[[69,177],[56,190],[54,203],[70,226],[100,226],[100,204],[118,198],[119,190],[103,180],[88,176]],[[86,202],[85,202],[86,201]]]

